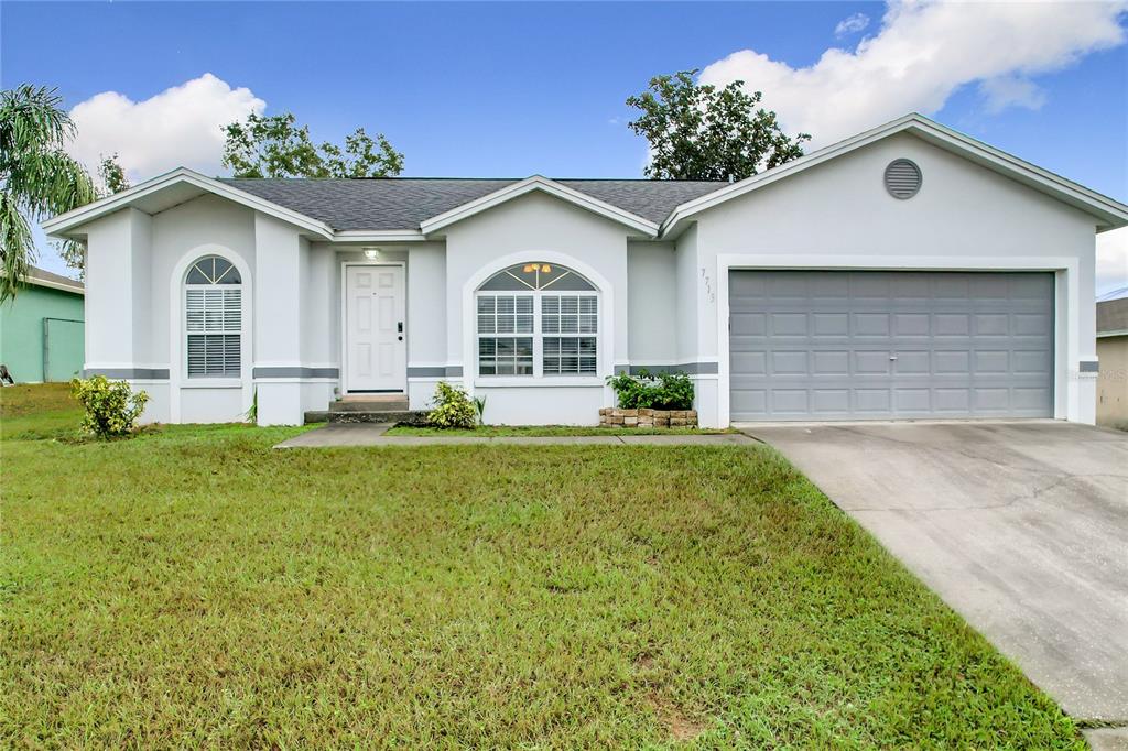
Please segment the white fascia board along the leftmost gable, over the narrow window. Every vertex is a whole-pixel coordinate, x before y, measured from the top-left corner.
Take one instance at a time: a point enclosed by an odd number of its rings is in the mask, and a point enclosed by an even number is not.
[[[301,229],[324,237],[327,240],[333,238],[333,229],[325,222],[320,222],[316,219],[307,217],[306,214],[298,213],[297,211],[280,206],[276,203],[259,198],[258,196],[252,195],[246,191],[240,191],[239,188],[231,187],[230,185],[226,185],[219,180],[205,177],[197,171],[188,169],[187,167],[178,167],[170,173],[153,177],[152,179],[146,180],[140,185],[135,185],[127,191],[115,193],[114,195],[102,198],[100,201],[95,201],[94,203],[88,203],[87,205],[74,209],[73,211],[68,211],[64,214],[53,217],[43,222],[41,227],[47,235],[61,237],[87,222],[105,217],[106,214],[113,213],[120,209],[124,209],[139,198],[143,198],[147,195],[158,193],[165,188],[179,184],[193,185],[208,193],[240,203],[245,206],[254,209],[255,211],[261,211],[264,214],[270,214],[271,217],[300,227]]]

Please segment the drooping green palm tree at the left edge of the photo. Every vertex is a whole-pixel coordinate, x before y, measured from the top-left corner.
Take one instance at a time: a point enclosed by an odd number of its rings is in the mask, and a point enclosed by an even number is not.
[[[95,198],[90,176],[63,150],[73,134],[55,89],[0,91],[0,302],[16,295],[35,259],[30,222]]]

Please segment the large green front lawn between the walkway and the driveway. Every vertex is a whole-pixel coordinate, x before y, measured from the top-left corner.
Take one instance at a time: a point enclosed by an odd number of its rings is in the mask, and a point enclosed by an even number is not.
[[[0,746],[1083,748],[767,448],[294,432],[3,442]]]

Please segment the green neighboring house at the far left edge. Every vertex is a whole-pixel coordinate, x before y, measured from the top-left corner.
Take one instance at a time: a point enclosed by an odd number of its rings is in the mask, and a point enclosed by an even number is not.
[[[0,364],[17,383],[81,373],[85,294],[81,282],[32,266],[15,299],[0,304]]]

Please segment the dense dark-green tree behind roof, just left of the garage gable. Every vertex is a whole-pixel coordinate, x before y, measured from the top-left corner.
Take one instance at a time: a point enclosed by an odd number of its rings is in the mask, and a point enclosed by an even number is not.
[[[723,89],[696,83],[696,70],[658,76],[629,97],[642,111],[627,126],[650,142],[651,179],[741,180],[803,156],[807,133],[788,136],[776,114],[760,107],[743,81]]]

